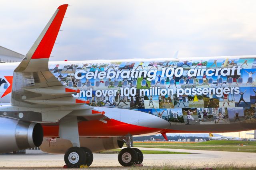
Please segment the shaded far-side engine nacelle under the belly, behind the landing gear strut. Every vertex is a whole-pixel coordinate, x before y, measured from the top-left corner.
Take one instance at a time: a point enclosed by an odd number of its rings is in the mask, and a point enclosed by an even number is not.
[[[92,152],[100,152],[103,150],[110,150],[116,148],[122,148],[124,142],[118,137],[107,137],[107,138],[88,138],[80,137],[80,146],[89,148]],[[73,145],[70,140],[62,138],[44,138],[40,149],[44,152],[51,154],[64,154],[66,150],[71,148]]]

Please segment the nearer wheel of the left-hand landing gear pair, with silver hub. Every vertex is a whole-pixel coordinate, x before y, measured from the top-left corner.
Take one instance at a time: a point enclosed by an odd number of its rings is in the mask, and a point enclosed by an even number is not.
[[[86,154],[82,148],[72,147],[66,151],[64,161],[68,168],[79,168],[86,163]]]

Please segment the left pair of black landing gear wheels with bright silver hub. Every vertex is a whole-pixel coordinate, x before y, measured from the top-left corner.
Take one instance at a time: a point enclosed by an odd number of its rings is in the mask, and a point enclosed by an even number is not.
[[[90,166],[93,161],[93,154],[88,148],[72,147],[66,151],[64,160],[68,168],[79,168],[81,165]]]

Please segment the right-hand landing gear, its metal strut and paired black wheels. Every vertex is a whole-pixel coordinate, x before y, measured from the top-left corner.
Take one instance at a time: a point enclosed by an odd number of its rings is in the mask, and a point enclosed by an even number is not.
[[[134,166],[135,164],[142,164],[143,154],[138,148],[131,148],[133,146],[132,136],[125,136],[123,138],[126,142],[127,148],[122,149],[118,154],[118,162],[122,166]]]

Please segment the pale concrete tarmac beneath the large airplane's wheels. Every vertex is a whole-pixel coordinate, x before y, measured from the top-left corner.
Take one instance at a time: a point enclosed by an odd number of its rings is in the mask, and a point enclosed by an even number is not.
[[[256,153],[224,152],[208,150],[183,150],[166,148],[139,148],[141,150],[166,150],[190,152],[192,154],[144,154],[143,165],[171,166],[186,168],[210,168],[216,166],[255,167]],[[94,154],[93,169],[128,169],[120,166],[118,154]],[[42,154],[41,151],[27,150],[27,154],[0,154],[0,169],[62,169],[63,154]]]

